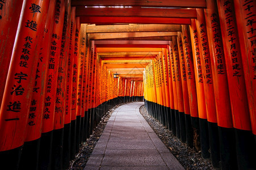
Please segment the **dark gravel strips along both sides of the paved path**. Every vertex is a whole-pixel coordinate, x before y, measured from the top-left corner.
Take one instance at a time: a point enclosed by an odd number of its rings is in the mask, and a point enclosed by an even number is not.
[[[90,138],[81,145],[80,151],[75,156],[75,159],[70,161],[69,169],[76,170],[85,168],[85,165],[90,158],[90,155],[93,152],[100,135],[103,133],[108,119],[110,118],[114,109],[119,106],[120,105],[117,105],[105,114],[99,125],[94,129],[93,134],[90,135]],[[151,117],[146,111],[144,105],[140,107],[140,113],[154,132],[158,135],[158,137],[162,140],[162,142],[165,143],[166,147],[169,148],[175,158],[177,158],[179,163],[182,164],[184,169],[215,169],[212,167],[210,160],[205,160],[201,157],[200,151],[196,151],[195,148],[190,148],[186,145],[186,143],[182,143],[171,133],[170,130],[165,129],[159,121]]]

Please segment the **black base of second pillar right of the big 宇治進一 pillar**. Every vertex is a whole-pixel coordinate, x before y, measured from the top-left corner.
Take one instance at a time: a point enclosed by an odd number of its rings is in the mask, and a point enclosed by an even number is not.
[[[51,169],[53,131],[41,134],[39,169]]]

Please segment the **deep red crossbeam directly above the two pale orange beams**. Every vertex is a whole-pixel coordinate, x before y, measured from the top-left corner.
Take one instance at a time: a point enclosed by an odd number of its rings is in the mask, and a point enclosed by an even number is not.
[[[82,24],[191,24],[190,18],[80,16]]]

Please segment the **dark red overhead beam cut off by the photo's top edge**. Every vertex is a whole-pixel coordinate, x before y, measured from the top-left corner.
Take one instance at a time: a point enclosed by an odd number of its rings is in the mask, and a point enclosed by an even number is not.
[[[205,8],[205,0],[73,0],[73,6],[158,6],[158,7],[190,7]]]

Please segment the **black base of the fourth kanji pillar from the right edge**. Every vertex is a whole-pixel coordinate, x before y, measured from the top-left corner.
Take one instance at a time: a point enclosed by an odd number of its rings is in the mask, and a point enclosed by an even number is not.
[[[220,138],[217,123],[208,122],[211,162],[214,168],[220,167]]]

